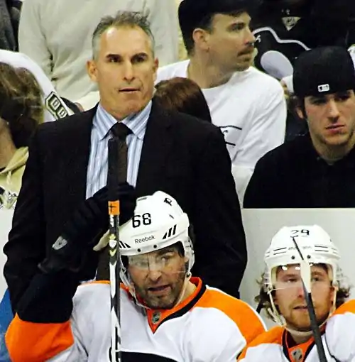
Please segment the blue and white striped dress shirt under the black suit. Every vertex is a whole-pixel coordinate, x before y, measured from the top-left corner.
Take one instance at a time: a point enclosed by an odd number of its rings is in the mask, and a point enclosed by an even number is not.
[[[136,186],[143,140],[151,108],[152,102],[149,102],[138,114],[129,116],[121,121],[132,131],[127,136],[126,143],[128,147],[127,182],[133,186]],[[87,198],[107,185],[108,141],[112,136],[111,127],[116,122],[117,120],[105,111],[100,104],[97,106],[97,112],[92,123],[91,147],[87,168]]]

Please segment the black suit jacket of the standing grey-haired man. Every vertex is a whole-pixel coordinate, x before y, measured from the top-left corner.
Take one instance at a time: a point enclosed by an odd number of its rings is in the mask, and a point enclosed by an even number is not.
[[[13,229],[4,247],[4,275],[16,310],[38,263],[85,199],[95,109],[43,124],[33,138]],[[136,190],[163,190],[187,212],[195,235],[194,274],[237,295],[246,267],[241,212],[231,161],[219,128],[185,114],[165,113],[153,102],[143,141]],[[94,278],[97,256],[82,279]]]

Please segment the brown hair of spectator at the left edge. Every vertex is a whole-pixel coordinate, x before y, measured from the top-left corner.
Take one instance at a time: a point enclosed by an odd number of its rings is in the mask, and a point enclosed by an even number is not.
[[[0,118],[9,124],[16,148],[28,146],[43,116],[42,89],[33,74],[0,62]]]

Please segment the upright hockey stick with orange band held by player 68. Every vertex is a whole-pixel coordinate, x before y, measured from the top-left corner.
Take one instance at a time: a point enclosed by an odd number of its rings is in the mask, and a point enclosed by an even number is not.
[[[109,275],[111,288],[111,362],[121,362],[121,318],[119,283],[119,200],[115,191],[119,183],[119,138],[109,139],[109,170],[107,190],[109,196]]]

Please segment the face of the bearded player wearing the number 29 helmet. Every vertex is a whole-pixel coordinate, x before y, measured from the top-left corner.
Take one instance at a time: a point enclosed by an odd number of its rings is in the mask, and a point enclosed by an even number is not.
[[[322,265],[312,265],[312,302],[317,321],[322,324],[334,302],[334,287],[327,270]],[[285,265],[277,272],[275,283],[275,305],[291,329],[310,331],[310,317],[305,293],[302,288],[299,265]]]

